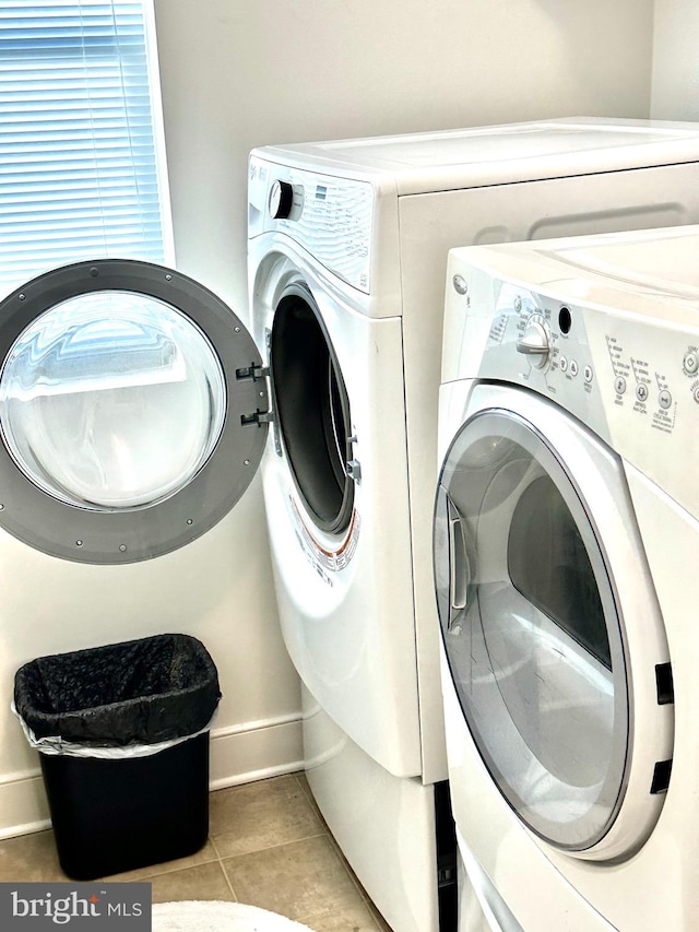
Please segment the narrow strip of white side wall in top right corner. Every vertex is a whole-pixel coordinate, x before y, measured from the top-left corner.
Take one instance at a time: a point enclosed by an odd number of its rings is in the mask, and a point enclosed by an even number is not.
[[[699,3],[655,0],[651,117],[699,120]]]

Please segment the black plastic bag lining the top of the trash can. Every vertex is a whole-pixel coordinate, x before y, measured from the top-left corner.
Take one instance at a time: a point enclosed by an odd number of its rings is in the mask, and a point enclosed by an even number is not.
[[[14,677],[15,708],[37,738],[106,747],[197,734],[220,698],[216,666],[188,635],[40,657]]]

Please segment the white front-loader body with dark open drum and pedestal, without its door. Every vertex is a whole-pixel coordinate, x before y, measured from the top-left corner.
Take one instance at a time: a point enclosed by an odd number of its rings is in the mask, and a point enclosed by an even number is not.
[[[447,251],[699,220],[698,129],[554,120],[251,154],[263,487],[307,775],[395,932],[433,932],[440,908],[448,928],[454,896],[430,546]]]

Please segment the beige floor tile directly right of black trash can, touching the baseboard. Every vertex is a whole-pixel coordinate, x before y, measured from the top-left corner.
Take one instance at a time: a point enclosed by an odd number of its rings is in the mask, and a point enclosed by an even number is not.
[[[275,777],[211,794],[210,835],[221,858],[322,835],[298,780]]]

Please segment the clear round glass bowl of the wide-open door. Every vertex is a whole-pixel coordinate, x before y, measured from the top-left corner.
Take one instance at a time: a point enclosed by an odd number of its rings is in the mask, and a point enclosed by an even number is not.
[[[99,292],[63,302],[15,340],[0,377],[2,438],[49,495],[97,510],[183,488],[223,429],[223,368],[171,305]]]

